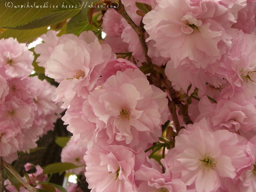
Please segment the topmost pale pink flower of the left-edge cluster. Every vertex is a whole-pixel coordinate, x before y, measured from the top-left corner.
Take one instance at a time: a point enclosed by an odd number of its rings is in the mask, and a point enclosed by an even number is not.
[[[34,60],[33,52],[12,37],[0,40],[0,74],[11,77],[29,76]]]

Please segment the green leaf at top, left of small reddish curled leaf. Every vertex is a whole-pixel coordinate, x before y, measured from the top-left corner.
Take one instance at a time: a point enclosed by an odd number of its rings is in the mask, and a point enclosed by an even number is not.
[[[93,0],[95,2],[95,0]],[[88,23],[86,15],[87,15],[88,7],[83,8],[78,14],[76,14],[70,21],[68,21],[66,33],[73,33],[78,36],[83,31],[93,31],[97,30],[94,25]],[[99,15],[95,15],[92,18],[93,23],[97,23],[97,18]]]

